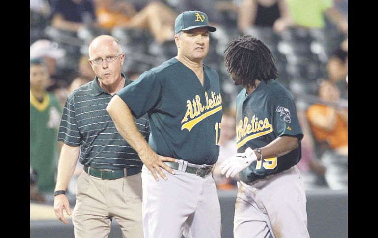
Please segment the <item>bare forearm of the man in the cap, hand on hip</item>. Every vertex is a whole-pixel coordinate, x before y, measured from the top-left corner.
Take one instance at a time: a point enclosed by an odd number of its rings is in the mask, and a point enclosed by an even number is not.
[[[107,111],[113,119],[118,132],[139,155],[145,154],[151,148],[136,127],[129,106],[119,96],[115,95],[111,99],[107,106]]]

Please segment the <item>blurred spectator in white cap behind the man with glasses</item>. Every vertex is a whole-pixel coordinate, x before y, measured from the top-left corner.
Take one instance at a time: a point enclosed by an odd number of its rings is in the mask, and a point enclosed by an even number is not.
[[[63,58],[66,54],[64,49],[59,49],[56,42],[52,42],[46,39],[40,39],[35,41],[30,46],[30,59],[42,58],[44,64],[47,66],[48,74],[50,76],[50,84],[57,85],[60,81],[65,81],[57,72],[56,61]],[[48,88],[48,91],[51,88]]]

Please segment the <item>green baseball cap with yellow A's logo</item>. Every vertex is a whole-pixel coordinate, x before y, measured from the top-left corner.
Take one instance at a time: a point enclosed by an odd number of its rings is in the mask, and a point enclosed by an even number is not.
[[[182,30],[190,30],[198,27],[207,27],[211,32],[216,31],[215,27],[209,26],[209,19],[204,12],[185,11],[178,15],[175,20],[175,34]]]

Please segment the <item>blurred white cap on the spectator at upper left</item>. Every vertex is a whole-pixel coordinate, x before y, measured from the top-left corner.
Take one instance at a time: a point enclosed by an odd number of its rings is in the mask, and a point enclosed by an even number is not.
[[[58,49],[57,43],[49,40],[37,40],[30,46],[30,59],[44,56],[59,59],[66,54],[64,49]]]

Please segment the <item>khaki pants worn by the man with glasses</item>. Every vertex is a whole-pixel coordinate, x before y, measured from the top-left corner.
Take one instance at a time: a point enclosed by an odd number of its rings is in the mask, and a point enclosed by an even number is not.
[[[112,218],[123,238],[143,238],[141,173],[102,180],[83,171],[76,187],[72,219],[76,238],[107,238]]]

